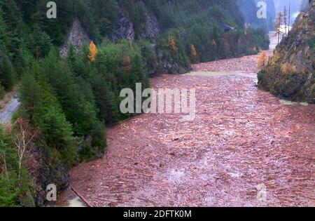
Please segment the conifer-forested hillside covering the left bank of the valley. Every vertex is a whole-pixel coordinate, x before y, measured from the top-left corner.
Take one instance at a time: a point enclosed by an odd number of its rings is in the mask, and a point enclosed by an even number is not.
[[[21,102],[1,129],[0,206],[41,206],[47,185],[66,187],[71,166],[102,156],[105,126],[130,117],[119,111],[122,88],[268,47],[263,27],[244,27],[236,1],[55,2],[57,19],[46,17],[45,0],[0,2],[0,94],[17,86]],[[74,20],[96,46],[69,46],[62,57]],[[19,160],[12,149],[22,129],[29,156]]]

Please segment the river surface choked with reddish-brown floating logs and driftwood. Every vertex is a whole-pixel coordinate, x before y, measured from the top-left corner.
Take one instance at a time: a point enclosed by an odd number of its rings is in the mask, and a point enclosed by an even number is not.
[[[223,61],[237,74],[151,79],[196,88],[195,120],[142,114],[108,128],[104,158],[73,168],[71,186],[93,206],[315,206],[315,106],[259,91],[256,59]],[[220,62],[194,68],[222,72]],[[67,190],[58,205],[75,197]]]

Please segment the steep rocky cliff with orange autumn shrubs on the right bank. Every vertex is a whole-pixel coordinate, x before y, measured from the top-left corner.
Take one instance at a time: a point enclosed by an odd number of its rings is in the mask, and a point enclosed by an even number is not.
[[[281,98],[315,103],[315,0],[258,74],[259,86]]]

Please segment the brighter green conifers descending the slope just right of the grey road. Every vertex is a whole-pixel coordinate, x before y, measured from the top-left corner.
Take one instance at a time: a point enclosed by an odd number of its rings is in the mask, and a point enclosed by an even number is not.
[[[19,98],[25,119],[34,122],[46,144],[57,149],[69,166],[77,162],[71,124],[45,81],[38,83],[30,74],[22,77]]]

